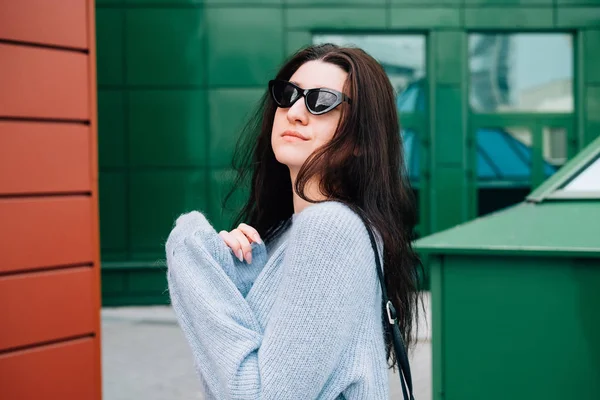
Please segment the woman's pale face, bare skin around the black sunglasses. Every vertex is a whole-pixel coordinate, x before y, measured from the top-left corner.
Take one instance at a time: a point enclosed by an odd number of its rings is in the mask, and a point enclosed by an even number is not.
[[[302,89],[328,88],[342,93],[347,76],[336,65],[308,61],[289,80]],[[331,140],[344,106],[345,103],[342,103],[328,113],[313,115],[306,109],[302,97],[290,108],[277,108],[271,132],[271,145],[277,161],[297,172],[308,156]]]

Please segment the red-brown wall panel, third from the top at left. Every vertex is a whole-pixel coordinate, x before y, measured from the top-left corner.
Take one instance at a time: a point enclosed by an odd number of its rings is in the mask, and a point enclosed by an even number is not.
[[[0,194],[90,192],[90,140],[83,124],[0,120]]]

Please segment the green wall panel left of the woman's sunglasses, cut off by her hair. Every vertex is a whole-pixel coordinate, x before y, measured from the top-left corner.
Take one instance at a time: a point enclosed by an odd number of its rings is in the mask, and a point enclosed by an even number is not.
[[[210,151],[212,167],[229,167],[239,134],[258,107],[265,89],[210,91]]]

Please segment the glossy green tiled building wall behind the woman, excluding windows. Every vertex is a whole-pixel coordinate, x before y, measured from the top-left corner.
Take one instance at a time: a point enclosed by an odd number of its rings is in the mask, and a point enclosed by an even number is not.
[[[147,291],[135,295],[128,282],[154,271],[178,213],[201,209],[228,227],[234,211],[221,210],[221,197],[239,128],[283,59],[313,34],[426,36],[427,110],[406,122],[419,126],[420,219],[429,233],[477,213],[468,33],[575,33],[569,132],[581,148],[600,133],[599,12],[596,0],[98,0],[102,260],[107,279],[123,272],[125,282],[103,292],[106,304],[162,301],[160,279],[143,280]],[[141,264],[129,268],[133,260]]]

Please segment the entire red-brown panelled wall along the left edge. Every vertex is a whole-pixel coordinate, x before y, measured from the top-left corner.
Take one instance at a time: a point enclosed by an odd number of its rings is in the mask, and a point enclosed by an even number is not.
[[[0,399],[102,398],[94,19],[0,0]]]

